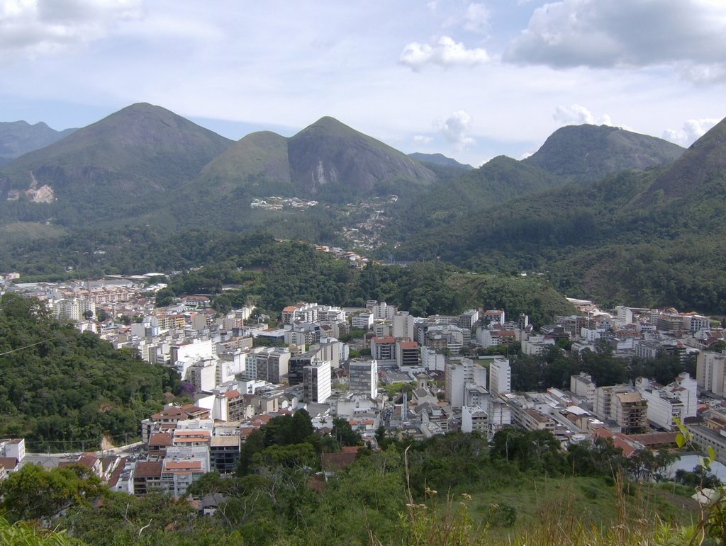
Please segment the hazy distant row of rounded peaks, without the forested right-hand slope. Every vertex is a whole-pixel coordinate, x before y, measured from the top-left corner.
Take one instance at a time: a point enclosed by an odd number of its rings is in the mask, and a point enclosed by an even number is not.
[[[0,222],[148,222],[169,211],[175,217],[199,212],[194,204],[200,200],[210,210],[229,212],[248,207],[251,197],[272,194],[327,202],[406,194],[402,202],[415,210],[422,203],[436,206],[444,192],[444,202],[452,194],[462,200],[454,212],[460,215],[484,201],[496,204],[574,180],[576,172],[590,181],[592,173],[662,165],[680,152],[658,138],[584,125],[560,129],[524,162],[495,158],[472,170],[441,155],[409,157],[332,117],[291,138],[262,131],[234,142],[142,103],[2,167]],[[582,165],[572,159],[578,154],[588,158]],[[568,165],[566,172],[557,165]]]

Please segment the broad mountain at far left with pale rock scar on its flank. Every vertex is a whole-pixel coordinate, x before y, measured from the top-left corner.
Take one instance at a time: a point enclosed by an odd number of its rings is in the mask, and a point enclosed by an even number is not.
[[[2,202],[0,218],[83,227],[153,212],[164,191],[195,178],[230,144],[166,109],[133,104],[5,166],[6,188],[34,180],[49,184],[55,200],[23,203],[22,215],[19,202]]]

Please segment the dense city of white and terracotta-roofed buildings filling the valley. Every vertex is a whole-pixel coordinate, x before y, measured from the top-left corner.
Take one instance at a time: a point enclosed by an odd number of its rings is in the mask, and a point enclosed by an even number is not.
[[[460,315],[416,317],[378,301],[298,302],[260,317],[253,306],[220,313],[205,294],[155,307],[155,291],[166,286],[161,273],[64,283],[5,277],[4,291],[38,298],[79,330],[173,368],[188,402],[146,415],[126,442],[54,453],[51,444],[4,440],[3,476],[28,463],[77,462],[114,491],[184,497],[205,473],[234,473],[253,431],[301,409],[320,434],[343,419],[360,439],[347,455],[322,454],[322,479],[382,439],[462,431],[492,441],[510,426],[549,431],[562,449],[608,439],[625,457],[673,450],[687,431],[694,444],[712,447],[714,468],[726,463],[726,355],[717,350],[726,347],[725,330],[697,313],[605,310],[570,299],[577,313],[550,324],[474,305]],[[597,384],[571,373],[565,385],[516,388],[526,379],[521,362],[552,365],[563,355],[575,363],[606,355],[631,367],[666,357],[681,371],[660,383],[639,376]]]

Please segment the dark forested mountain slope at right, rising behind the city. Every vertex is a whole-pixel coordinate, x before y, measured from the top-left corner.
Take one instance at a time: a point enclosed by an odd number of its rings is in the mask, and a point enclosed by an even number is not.
[[[699,192],[685,197],[641,203],[664,175],[624,172],[480,208],[465,220],[417,233],[396,256],[439,257],[476,271],[541,272],[559,291],[605,306],[720,313],[726,304],[719,258],[726,250],[726,174],[711,173]]]

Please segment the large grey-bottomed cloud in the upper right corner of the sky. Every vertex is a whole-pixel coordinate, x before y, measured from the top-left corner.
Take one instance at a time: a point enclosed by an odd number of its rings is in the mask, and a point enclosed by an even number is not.
[[[725,35],[722,1],[562,0],[535,9],[502,58],[552,67],[723,67]]]

